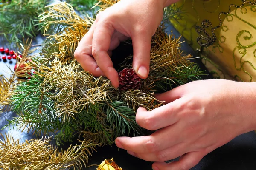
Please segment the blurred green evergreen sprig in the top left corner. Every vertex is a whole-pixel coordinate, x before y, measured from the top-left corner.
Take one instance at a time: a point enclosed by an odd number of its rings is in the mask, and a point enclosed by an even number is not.
[[[12,0],[0,8],[0,35],[9,42],[22,42],[40,33],[38,15],[44,11],[47,0]]]

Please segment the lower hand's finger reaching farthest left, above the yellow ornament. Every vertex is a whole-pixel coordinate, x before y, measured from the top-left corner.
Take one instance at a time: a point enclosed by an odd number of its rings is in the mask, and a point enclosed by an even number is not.
[[[155,153],[183,142],[183,125],[179,123],[157,130],[149,136],[118,137],[116,146],[134,153]]]

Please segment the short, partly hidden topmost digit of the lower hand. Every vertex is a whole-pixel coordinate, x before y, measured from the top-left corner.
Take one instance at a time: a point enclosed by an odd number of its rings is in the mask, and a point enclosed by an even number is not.
[[[184,86],[178,86],[176,88],[173,88],[170,91],[167,91],[162,94],[155,94],[155,97],[159,101],[164,101],[163,103],[167,104],[170,102],[175,101],[176,99],[181,98],[185,94],[185,90],[183,88]]]

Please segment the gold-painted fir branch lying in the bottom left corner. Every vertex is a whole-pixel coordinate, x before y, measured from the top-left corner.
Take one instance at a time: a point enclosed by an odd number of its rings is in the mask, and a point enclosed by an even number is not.
[[[49,144],[50,138],[31,139],[20,143],[9,135],[0,134],[0,164],[3,170],[81,170],[95,150],[95,144],[80,141],[80,145],[59,151]]]

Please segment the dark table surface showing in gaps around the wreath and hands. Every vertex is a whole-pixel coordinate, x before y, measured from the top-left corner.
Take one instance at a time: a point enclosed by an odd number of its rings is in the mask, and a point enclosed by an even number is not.
[[[179,36],[177,31],[175,31],[172,26],[168,27],[168,30],[173,30],[174,34]],[[38,36],[34,41],[34,44],[41,44],[43,37]],[[0,47],[5,46],[4,42],[0,42]],[[11,47],[9,47],[11,48]],[[193,54],[196,56],[194,51],[185,42],[182,44],[184,52]],[[199,59],[195,59],[202,69],[204,65]],[[0,74],[5,74],[9,76],[9,68],[14,68],[15,61],[7,60],[4,62],[0,60]],[[209,79],[211,77],[203,77],[204,79]],[[6,112],[0,114],[0,128],[6,125],[6,119],[12,119],[16,114],[13,112]],[[239,128],[239,127],[238,127]],[[13,129],[4,129],[0,131],[1,133],[8,133],[15,139],[20,139],[20,142],[24,142],[26,139],[36,138],[31,133],[23,132],[17,130],[16,127]],[[1,139],[1,138],[0,138]],[[70,145],[70,144],[67,144]],[[90,164],[100,164],[104,159],[114,158],[116,163],[125,170],[151,170],[152,162],[143,161],[130,156],[125,150],[118,150],[116,146],[106,146],[98,148],[97,152],[93,154],[93,158],[90,159]],[[86,170],[96,170],[96,166],[89,168],[84,168]],[[196,165],[192,170],[256,170],[256,134],[255,132],[242,134],[229,143],[222,147],[212,151],[207,156],[205,156],[198,165]]]

